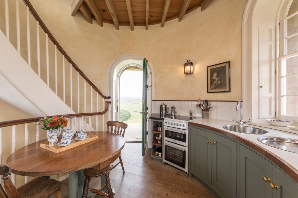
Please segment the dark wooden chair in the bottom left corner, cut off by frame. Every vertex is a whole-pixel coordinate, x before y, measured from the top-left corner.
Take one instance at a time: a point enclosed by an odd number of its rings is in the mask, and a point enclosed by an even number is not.
[[[9,178],[9,168],[6,165],[0,165],[0,175],[3,175],[4,189],[0,185],[0,197],[3,198],[46,198],[56,192],[57,198],[62,198],[60,189],[62,183],[54,179],[37,177],[23,186],[16,188]]]

